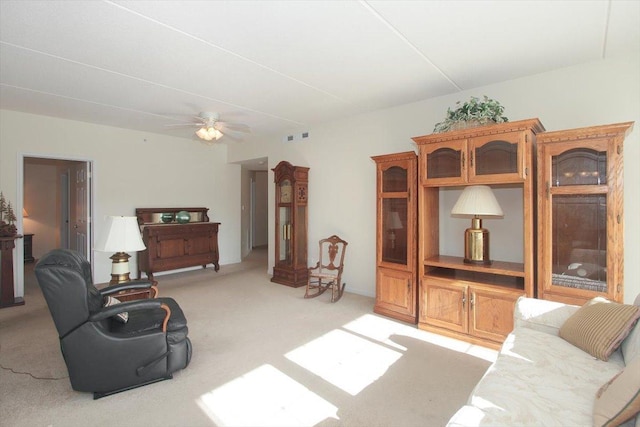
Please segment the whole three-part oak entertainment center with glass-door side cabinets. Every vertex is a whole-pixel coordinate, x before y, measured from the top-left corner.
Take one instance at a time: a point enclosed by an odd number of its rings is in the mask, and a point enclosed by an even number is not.
[[[623,154],[633,125],[547,132],[534,118],[418,136],[417,177],[412,152],[374,157],[374,311],[499,348],[521,296],[623,302]],[[451,233],[452,199],[473,185],[511,203],[509,232],[497,242],[511,252],[489,262],[469,262],[450,240],[462,237]],[[416,228],[417,241],[405,238]]]

